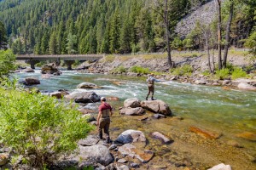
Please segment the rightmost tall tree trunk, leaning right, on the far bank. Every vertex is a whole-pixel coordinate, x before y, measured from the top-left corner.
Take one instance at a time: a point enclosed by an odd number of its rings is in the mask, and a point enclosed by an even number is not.
[[[227,66],[227,58],[228,58],[228,52],[229,52],[229,46],[230,46],[230,26],[231,26],[231,21],[233,19],[233,13],[234,13],[234,1],[231,0],[230,4],[230,18],[227,23],[226,27],[226,42],[225,42],[225,47],[224,47],[224,56],[223,56],[223,67],[226,68]]]

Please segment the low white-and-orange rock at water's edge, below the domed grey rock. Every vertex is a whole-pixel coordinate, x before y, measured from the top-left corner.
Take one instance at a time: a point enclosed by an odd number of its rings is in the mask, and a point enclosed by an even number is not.
[[[143,163],[150,161],[154,156],[154,152],[150,150],[139,150],[132,144],[124,144],[120,146],[119,153],[123,156],[136,157]]]

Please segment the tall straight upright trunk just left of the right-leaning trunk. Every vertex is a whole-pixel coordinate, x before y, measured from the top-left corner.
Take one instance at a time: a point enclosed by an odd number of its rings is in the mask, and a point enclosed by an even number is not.
[[[222,69],[221,59],[221,0],[218,0],[218,70]]]

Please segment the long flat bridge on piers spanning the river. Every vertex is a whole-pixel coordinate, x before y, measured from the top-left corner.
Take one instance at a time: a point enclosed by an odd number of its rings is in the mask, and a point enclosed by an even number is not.
[[[21,55],[17,54],[17,60],[26,60],[26,63],[31,65],[32,69],[35,69],[35,65],[40,61],[48,60],[48,61],[61,61],[64,60],[67,65],[67,70],[72,70],[72,65],[75,60],[79,61],[96,61],[98,59],[102,59],[104,54],[60,54],[60,55],[52,55],[52,54],[26,54]]]

